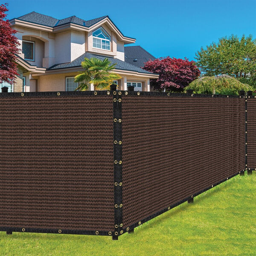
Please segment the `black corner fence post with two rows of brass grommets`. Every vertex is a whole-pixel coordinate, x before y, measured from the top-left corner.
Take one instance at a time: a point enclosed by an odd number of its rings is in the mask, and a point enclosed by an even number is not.
[[[113,92],[113,166],[114,166],[114,233],[113,240],[124,231],[122,229],[122,92],[116,91],[116,84],[111,84]]]

